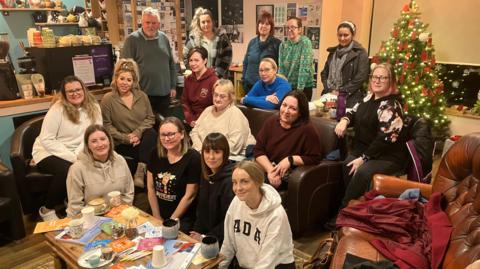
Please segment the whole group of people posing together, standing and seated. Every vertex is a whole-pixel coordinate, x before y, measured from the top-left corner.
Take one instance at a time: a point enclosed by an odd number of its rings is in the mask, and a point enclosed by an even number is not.
[[[40,216],[57,218],[54,208],[67,197],[67,214],[77,215],[113,190],[131,204],[134,186],[146,178],[152,215],[179,219],[181,230],[196,239],[216,236],[225,256],[220,268],[234,258],[242,268],[294,268],[292,234],[277,191],[287,188],[292,169],[318,164],[324,154],[322,134],[310,121],[313,53],[301,27],[300,19],[290,18],[288,40],[280,42],[272,16],[258,20],[244,60],[244,86],[251,90],[241,102],[279,113],[254,137],[225,79],[230,43],[203,8],[195,12],[185,45],[192,71],[181,97],[185,120],[156,122],[155,113],[164,115],[176,96],[176,71],[158,11],[145,9],[142,28],[126,39],[115,65],[112,92],[100,104],[77,77],[62,82],[32,152],[38,169],[54,175]],[[338,95],[344,108],[335,133],[343,137],[348,126],[355,129],[342,206],[368,190],[373,173],[402,171],[406,159],[395,73],[389,64],[376,65],[364,97],[368,57],[353,40],[355,31],[349,21],[338,26],[339,44],[328,49],[322,71],[325,90]]]

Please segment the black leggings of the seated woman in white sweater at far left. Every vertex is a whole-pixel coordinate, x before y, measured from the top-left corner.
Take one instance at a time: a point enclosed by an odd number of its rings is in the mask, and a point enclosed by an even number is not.
[[[56,205],[62,204],[67,197],[66,182],[68,169],[71,165],[71,162],[54,155],[48,156],[37,164],[40,172],[53,175],[53,180],[50,182],[47,191],[46,208],[54,209]]]

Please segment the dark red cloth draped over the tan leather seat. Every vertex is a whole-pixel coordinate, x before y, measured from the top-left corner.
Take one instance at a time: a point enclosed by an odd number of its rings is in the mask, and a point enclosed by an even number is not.
[[[441,194],[432,194],[425,205],[397,198],[372,200],[375,195],[366,193],[367,201],[342,209],[337,226],[390,238],[370,243],[401,269],[439,268],[452,232],[440,206]]]

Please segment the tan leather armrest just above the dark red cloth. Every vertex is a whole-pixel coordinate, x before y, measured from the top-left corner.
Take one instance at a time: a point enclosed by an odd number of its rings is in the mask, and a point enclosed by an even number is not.
[[[398,197],[407,189],[419,188],[427,199],[432,194],[432,185],[401,179],[394,176],[376,174],[373,176],[373,189],[387,197]]]

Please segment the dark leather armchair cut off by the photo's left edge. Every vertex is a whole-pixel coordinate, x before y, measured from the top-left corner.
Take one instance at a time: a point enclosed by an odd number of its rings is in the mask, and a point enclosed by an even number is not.
[[[9,240],[19,240],[25,237],[22,207],[15,186],[12,172],[0,162],[0,223],[7,223],[8,229],[1,230]]]

